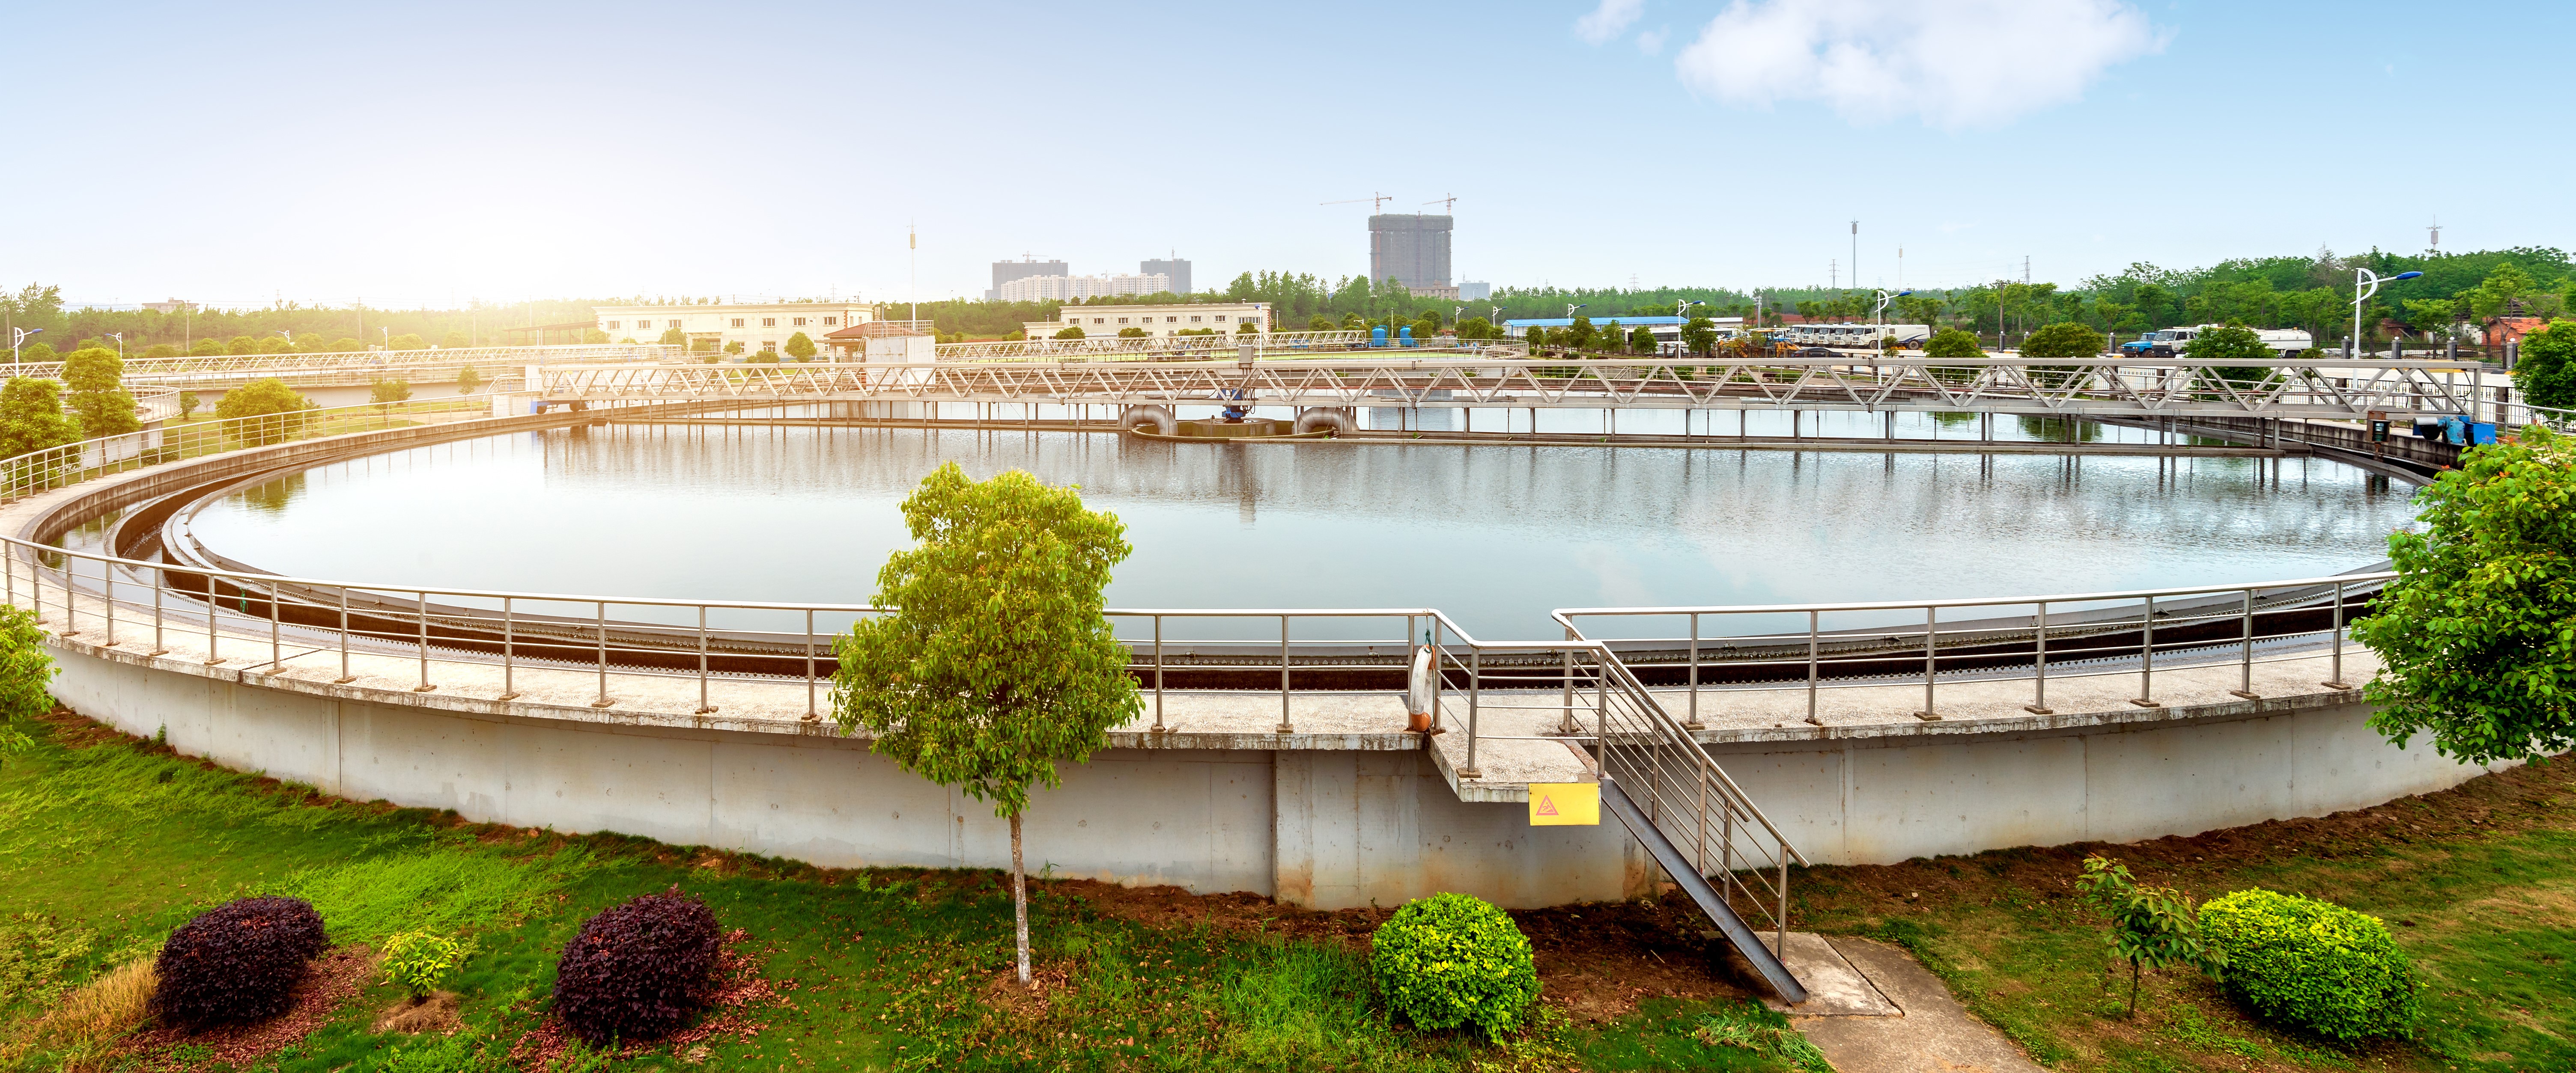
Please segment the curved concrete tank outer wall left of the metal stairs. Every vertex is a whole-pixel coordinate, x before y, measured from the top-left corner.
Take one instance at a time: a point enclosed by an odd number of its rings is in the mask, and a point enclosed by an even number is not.
[[[77,713],[343,798],[827,867],[1010,867],[992,805],[863,741],[482,718],[88,643],[54,654],[54,695]],[[1649,883],[1623,829],[1530,829],[1525,805],[1461,803],[1419,751],[1110,749],[1036,793],[1025,836],[1030,870],[1311,908],[1437,890],[1535,908]]]

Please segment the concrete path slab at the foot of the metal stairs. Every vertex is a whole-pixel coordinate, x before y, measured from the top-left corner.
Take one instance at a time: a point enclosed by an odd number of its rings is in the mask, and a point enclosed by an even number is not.
[[[1788,965],[1808,988],[1790,1027],[1839,1073],[2040,1073],[1904,949],[1790,931]]]

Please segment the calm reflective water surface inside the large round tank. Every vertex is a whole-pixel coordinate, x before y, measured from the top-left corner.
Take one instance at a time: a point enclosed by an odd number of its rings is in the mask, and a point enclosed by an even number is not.
[[[2409,486],[2324,461],[595,427],[322,466],[196,533],[301,576],[866,602],[907,543],[896,504],[951,458],[1082,484],[1115,512],[1136,556],[1110,605],[1430,605],[1489,638],[1551,636],[1551,607],[2334,574],[2385,558],[2409,517]]]

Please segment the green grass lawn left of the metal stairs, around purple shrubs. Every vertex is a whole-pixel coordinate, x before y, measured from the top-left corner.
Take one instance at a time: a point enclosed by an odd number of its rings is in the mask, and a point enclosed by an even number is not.
[[[453,1037],[374,1034],[381,980],[278,1070],[1788,1070],[1695,1037],[1710,1019],[1783,1024],[1739,998],[1646,996],[1615,1016],[1551,1014],[1520,1040],[1391,1024],[1373,1004],[1365,929],[1236,895],[1231,916],[1141,919],[1087,885],[1033,885],[1043,1004],[997,988],[1010,893],[997,872],[814,870],[618,836],[492,829],[358,805],[214,769],[67,713],[0,767],[0,1040],[75,988],[147,957],[188,916],[250,893],[309,898],[335,942],[435,929],[474,942]],[[703,898],[768,980],[719,1009],[721,1032],[626,1055],[549,1052],[554,960],[590,913],[677,885]],[[1182,903],[1213,903],[1180,898]],[[1589,911],[1589,908],[1584,908]],[[1610,908],[1615,911],[1615,908]],[[1303,926],[1293,926],[1303,924]],[[1636,955],[1649,957],[1646,952]],[[1687,957],[1669,947],[1656,960]],[[1600,968],[1600,965],[1597,965]],[[1618,973],[1618,965],[1607,965]],[[1569,998],[1569,996],[1553,996]],[[703,1050],[701,1050],[703,1047]],[[5,1050],[0,1050],[5,1052]],[[515,1058],[513,1058],[515,1052]],[[23,1050],[5,1065],[124,1068],[134,1055]],[[216,1068],[185,1047],[155,1065]],[[121,1065],[124,1063],[124,1065]]]

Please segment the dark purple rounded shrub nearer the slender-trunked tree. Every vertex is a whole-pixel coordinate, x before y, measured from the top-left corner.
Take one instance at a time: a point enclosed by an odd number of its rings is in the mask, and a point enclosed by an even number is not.
[[[582,921],[554,968],[554,1011],[590,1045],[659,1040],[716,993],[716,913],[670,888]]]

